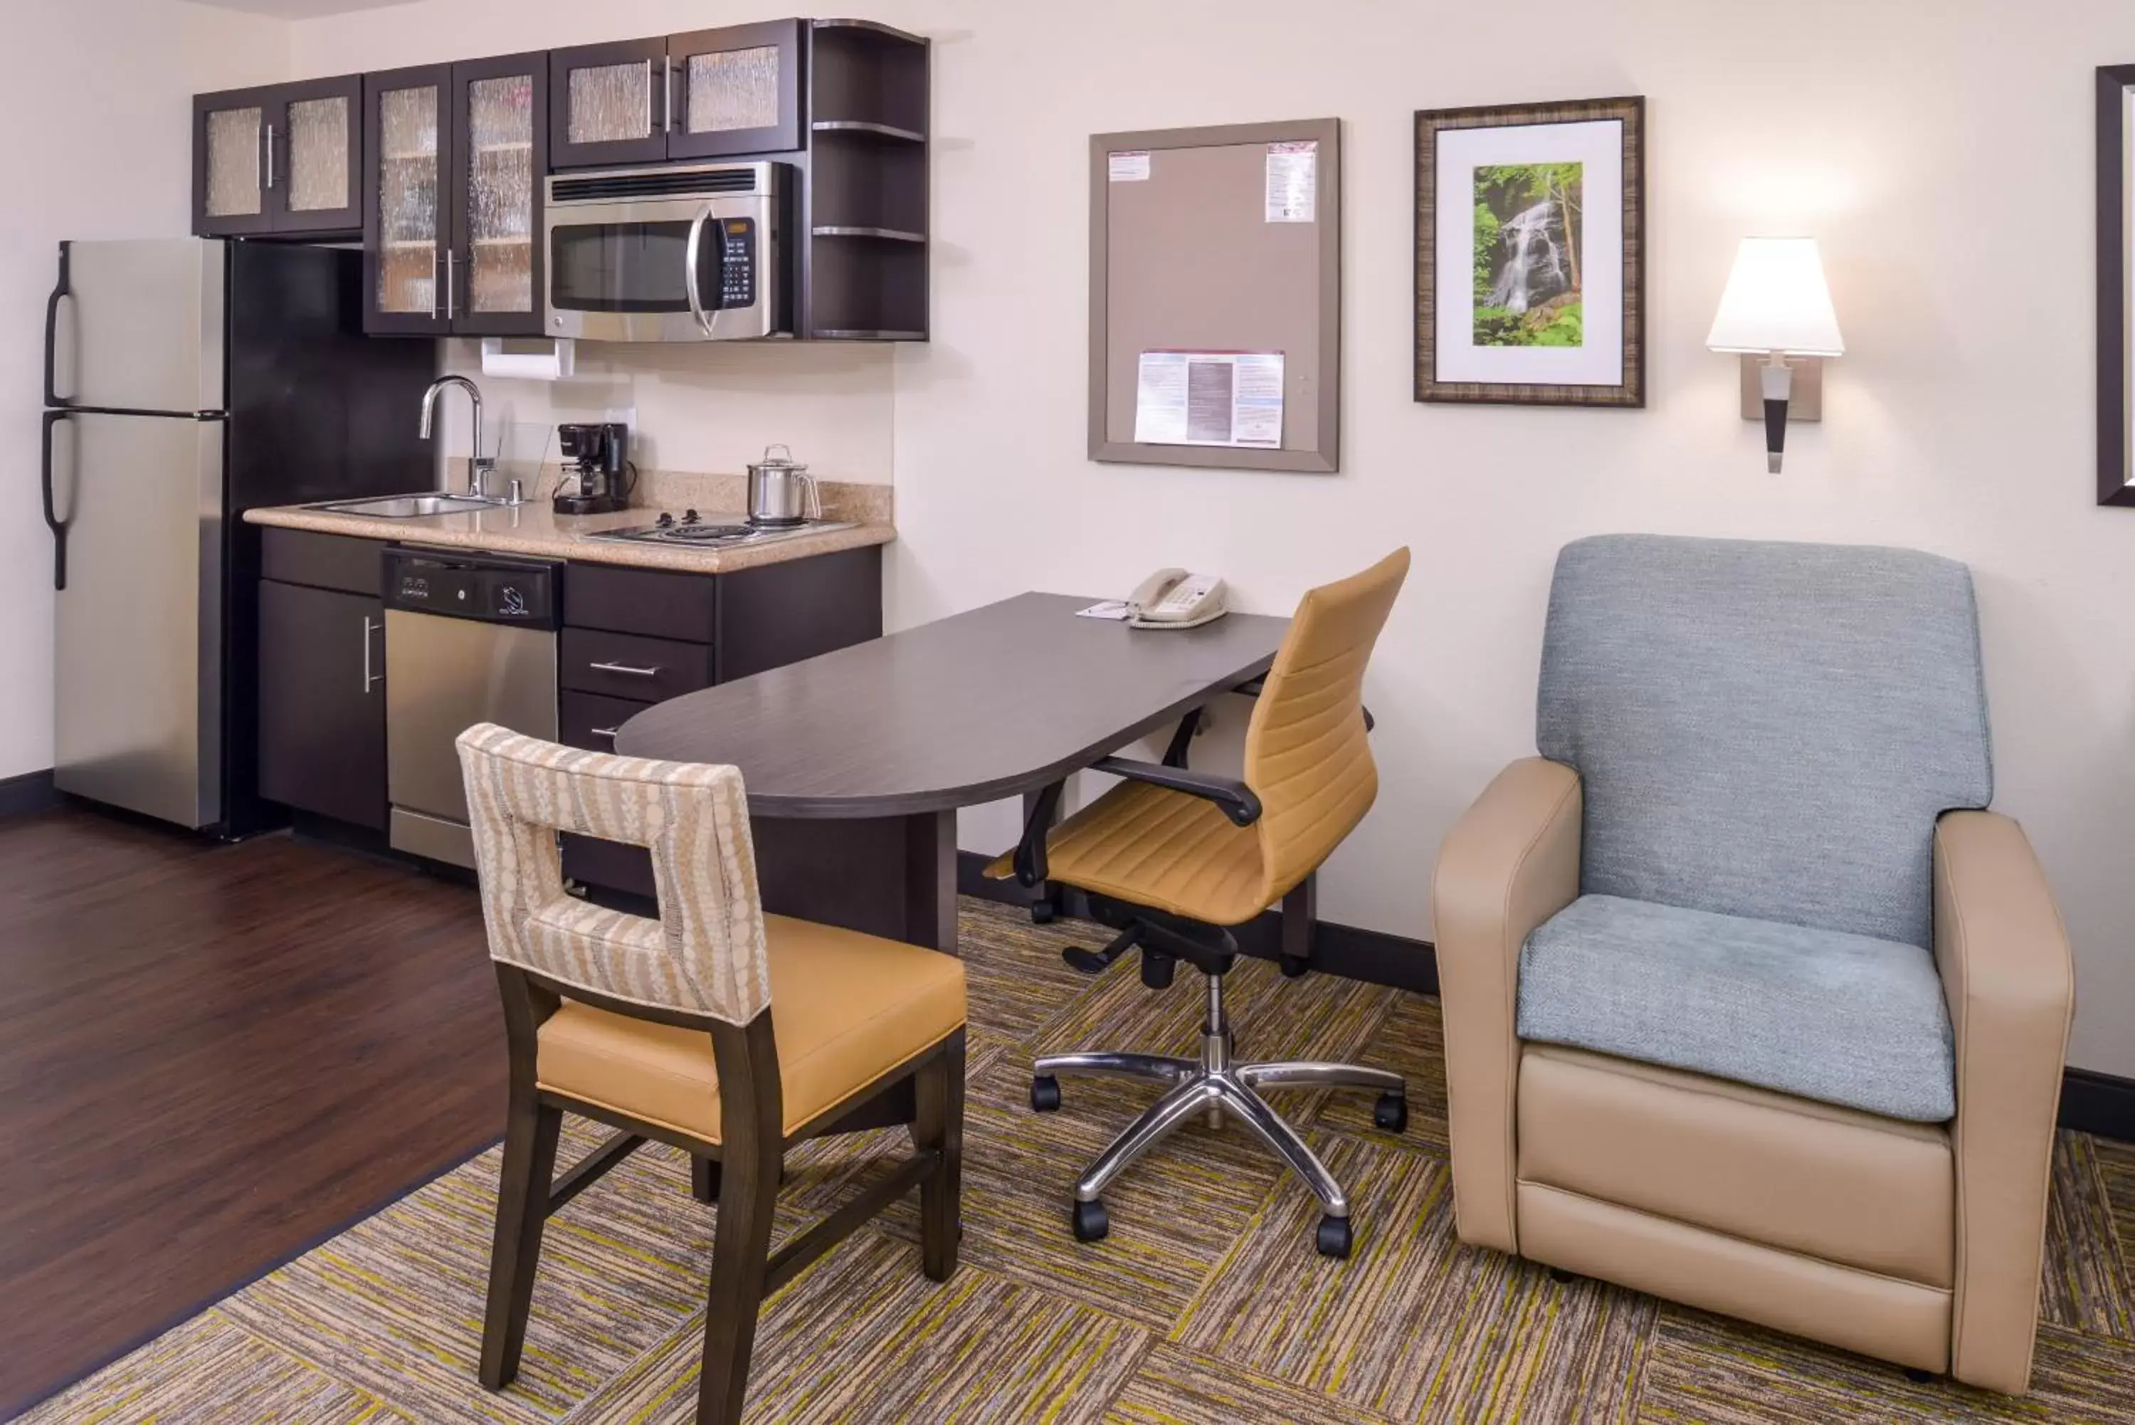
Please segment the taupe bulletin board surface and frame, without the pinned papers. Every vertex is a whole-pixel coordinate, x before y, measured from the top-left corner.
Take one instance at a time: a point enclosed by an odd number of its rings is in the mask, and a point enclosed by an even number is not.
[[[1309,222],[1266,218],[1270,145],[1313,145]],[[1114,182],[1114,154],[1142,177]],[[1136,440],[1142,350],[1285,353],[1281,447]],[[1341,120],[1091,137],[1089,457],[1341,470]]]

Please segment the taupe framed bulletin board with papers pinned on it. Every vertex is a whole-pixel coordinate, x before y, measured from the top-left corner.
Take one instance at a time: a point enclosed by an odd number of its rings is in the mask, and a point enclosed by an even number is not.
[[[1095,135],[1089,212],[1089,457],[1339,470],[1341,122]]]

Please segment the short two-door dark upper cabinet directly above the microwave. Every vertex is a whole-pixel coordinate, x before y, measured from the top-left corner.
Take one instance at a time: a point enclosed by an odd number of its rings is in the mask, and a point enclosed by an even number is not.
[[[769,19],[553,51],[551,167],[805,147],[805,24]]]

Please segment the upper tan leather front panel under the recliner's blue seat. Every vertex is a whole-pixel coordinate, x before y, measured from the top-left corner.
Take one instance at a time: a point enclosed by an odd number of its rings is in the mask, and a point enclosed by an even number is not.
[[[1956,1164],[1934,1124],[1527,1045],[1520,1181],[1921,1286],[1956,1275]]]

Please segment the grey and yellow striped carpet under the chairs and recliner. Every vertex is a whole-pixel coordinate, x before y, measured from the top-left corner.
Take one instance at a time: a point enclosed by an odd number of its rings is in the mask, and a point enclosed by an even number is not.
[[[918,1273],[899,1205],[764,1310],[752,1421],[2135,1421],[2135,1147],[2065,1134],[2033,1393],[1909,1384],[1896,1369],[1599,1282],[1462,1248],[1452,1233],[1435,1000],[1249,961],[1240,1053],[1362,1058],[1409,1075],[1409,1130],[1369,1096],[1281,1107],[1349,1188],[1356,1258],[1313,1254],[1317,1207],[1270,1160],[1193,1128],[1108,1194],[1078,1246],[1076,1171],[1149,1100],[1068,1081],[1025,1102],[1038,1047],[1189,1051],[1198,998],[1059,961],[1072,925],[967,902],[971,1087],[963,1267]],[[568,1147],[596,1132],[572,1124]],[[779,1237],[899,1143],[816,1143],[790,1164]],[[653,1425],[696,1399],[711,1209],[679,1154],[640,1149],[553,1222],[525,1365],[474,1380],[497,1154],[414,1192],[32,1410],[43,1423],[510,1421]]]

